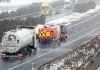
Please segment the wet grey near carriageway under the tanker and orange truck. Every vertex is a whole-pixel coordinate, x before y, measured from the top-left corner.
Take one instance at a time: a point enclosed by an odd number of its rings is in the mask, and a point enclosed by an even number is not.
[[[0,59],[0,70],[31,70],[32,63],[34,67],[47,63],[58,56],[79,47],[83,42],[91,39],[92,33],[100,28],[99,24],[100,15],[93,17],[76,25],[69,25],[68,39],[66,43],[61,44],[59,48],[39,48],[36,55],[26,57],[23,61],[11,59],[10,61],[2,61]]]

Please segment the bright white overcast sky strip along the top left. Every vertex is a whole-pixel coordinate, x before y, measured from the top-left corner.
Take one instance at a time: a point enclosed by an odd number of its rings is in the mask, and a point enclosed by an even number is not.
[[[11,0],[8,3],[1,2],[0,6],[13,6],[13,5],[28,5],[33,2],[52,2],[56,0]]]

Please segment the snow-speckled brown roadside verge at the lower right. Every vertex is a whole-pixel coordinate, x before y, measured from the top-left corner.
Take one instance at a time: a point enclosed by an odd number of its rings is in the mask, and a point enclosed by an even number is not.
[[[77,69],[83,68],[83,65],[90,64],[93,57],[100,52],[100,36],[96,36],[88,42],[82,44],[79,48],[58,57],[34,70],[53,70],[53,69]],[[90,61],[90,62],[88,62]]]

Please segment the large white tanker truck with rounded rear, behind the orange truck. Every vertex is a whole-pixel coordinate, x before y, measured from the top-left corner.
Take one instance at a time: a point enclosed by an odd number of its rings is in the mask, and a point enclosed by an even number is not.
[[[9,57],[23,58],[27,52],[37,48],[34,42],[34,27],[20,26],[16,30],[5,32],[1,42],[4,49],[1,55],[2,59]]]

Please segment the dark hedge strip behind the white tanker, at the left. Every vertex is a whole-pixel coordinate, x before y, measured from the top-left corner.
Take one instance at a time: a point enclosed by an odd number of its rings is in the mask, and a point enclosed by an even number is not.
[[[38,24],[45,24],[45,16],[41,15],[39,17],[28,17],[26,20],[3,20],[0,21],[0,41],[3,36],[3,32],[16,29],[18,25],[36,26]]]

